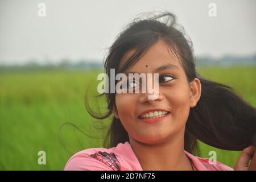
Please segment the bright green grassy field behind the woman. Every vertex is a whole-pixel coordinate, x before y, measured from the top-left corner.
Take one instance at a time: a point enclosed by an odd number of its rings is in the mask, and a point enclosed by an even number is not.
[[[256,67],[199,68],[201,75],[229,84],[256,106]],[[84,107],[85,90],[100,71],[1,71],[0,72],[0,169],[63,170],[65,163],[82,148],[100,147],[102,139],[92,139],[65,122],[72,122],[86,133],[92,118]],[[99,100],[101,104],[103,100]],[[94,104],[94,102],[93,102]],[[104,110],[104,109],[103,109]],[[240,152],[224,151],[201,143],[201,153],[217,152],[217,160],[233,167]],[[38,164],[38,152],[46,151],[46,165]]]

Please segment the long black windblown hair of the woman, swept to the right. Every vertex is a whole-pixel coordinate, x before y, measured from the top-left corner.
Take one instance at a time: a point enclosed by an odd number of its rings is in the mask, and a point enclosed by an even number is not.
[[[255,144],[256,109],[236,94],[230,86],[209,81],[196,72],[193,44],[185,34],[184,28],[176,23],[174,14],[164,12],[149,15],[146,19],[134,19],[117,36],[105,59],[106,74],[110,77],[110,69],[118,71],[115,74],[125,71],[154,43],[160,39],[164,40],[167,46],[181,57],[179,61],[185,70],[187,80],[191,82],[199,78],[201,82],[200,100],[191,108],[185,126],[184,149],[195,154],[198,150],[197,140],[224,150],[243,150]],[[134,48],[134,54],[122,68],[118,69],[123,55]],[[97,115],[87,102],[85,106],[94,118],[113,117],[105,138],[105,147],[115,147],[118,143],[129,142],[127,131],[112,113],[115,107],[115,93],[109,92],[99,96],[106,96],[107,113]]]

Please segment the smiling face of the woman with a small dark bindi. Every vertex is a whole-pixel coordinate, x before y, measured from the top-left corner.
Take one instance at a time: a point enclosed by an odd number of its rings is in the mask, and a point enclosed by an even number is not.
[[[123,56],[119,68],[134,51],[132,49]],[[195,81],[188,82],[180,61],[172,55],[162,40],[155,43],[137,63],[125,71],[128,72],[158,73],[161,93],[155,100],[148,100],[148,93],[115,94],[114,115],[122,122],[129,138],[142,143],[157,144],[174,137],[182,137],[189,109],[200,98],[200,81],[195,78]],[[158,119],[143,119],[150,117],[155,110],[167,111],[167,115]],[[147,114],[142,115],[145,111]]]

